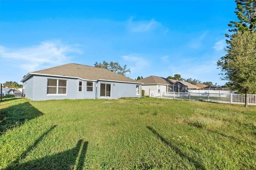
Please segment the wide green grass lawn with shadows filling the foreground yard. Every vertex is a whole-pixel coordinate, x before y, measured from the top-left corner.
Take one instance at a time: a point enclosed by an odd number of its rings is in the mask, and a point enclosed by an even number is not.
[[[256,169],[253,106],[5,98],[0,118],[0,169]]]

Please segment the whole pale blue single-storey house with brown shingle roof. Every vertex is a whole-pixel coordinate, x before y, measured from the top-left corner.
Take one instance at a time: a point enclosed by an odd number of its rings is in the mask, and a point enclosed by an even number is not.
[[[142,84],[106,69],[74,63],[30,72],[21,82],[31,100],[141,97]]]

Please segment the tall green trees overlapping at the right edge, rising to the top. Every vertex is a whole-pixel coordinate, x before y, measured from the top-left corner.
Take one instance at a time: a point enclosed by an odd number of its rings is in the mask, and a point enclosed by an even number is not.
[[[245,93],[247,107],[248,93],[254,92],[254,71],[256,67],[252,59],[255,55],[256,1],[235,0],[238,21],[228,24],[231,35],[226,34],[227,54],[218,61],[222,79],[228,80],[228,88]],[[237,65],[235,65],[237,64]],[[250,76],[254,76],[251,78]]]

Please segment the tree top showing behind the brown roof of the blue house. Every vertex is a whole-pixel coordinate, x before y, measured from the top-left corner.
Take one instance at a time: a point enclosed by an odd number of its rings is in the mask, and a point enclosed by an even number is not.
[[[94,66],[100,67],[102,69],[107,69],[107,70],[110,70],[112,72],[122,74],[122,75],[125,75],[126,73],[131,73],[131,69],[127,69],[126,64],[124,66],[121,66],[118,62],[109,62],[108,63],[106,61],[103,61],[102,64],[95,62]]]

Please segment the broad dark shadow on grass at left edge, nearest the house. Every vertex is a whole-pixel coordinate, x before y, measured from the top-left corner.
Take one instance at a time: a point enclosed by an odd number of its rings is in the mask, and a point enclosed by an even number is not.
[[[29,102],[0,109],[0,135],[27,120],[43,115]]]

